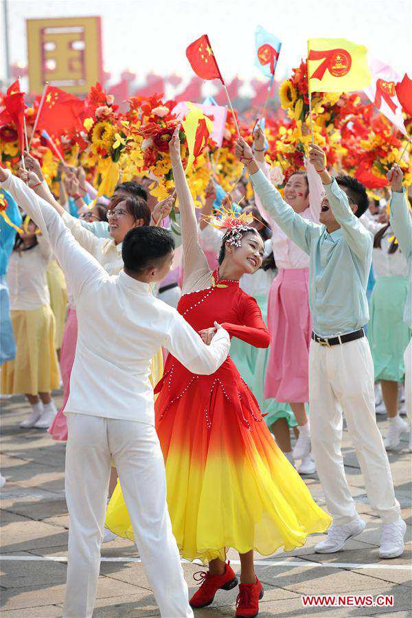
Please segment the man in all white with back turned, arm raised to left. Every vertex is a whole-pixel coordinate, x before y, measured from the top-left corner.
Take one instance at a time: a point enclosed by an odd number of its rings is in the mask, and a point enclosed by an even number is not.
[[[27,179],[36,183],[32,172]],[[207,346],[174,308],[153,297],[150,283],[161,281],[172,264],[174,241],[167,231],[130,230],[122,246],[124,271],[110,276],[80,247],[56,210],[21,179],[0,168],[0,184],[49,240],[78,312],[66,406],[70,524],[63,616],[89,618],[93,613],[113,461],[161,615],[192,617],[166,505],[150,358],[164,346],[193,373],[212,374],[227,357],[229,335],[218,328]]]

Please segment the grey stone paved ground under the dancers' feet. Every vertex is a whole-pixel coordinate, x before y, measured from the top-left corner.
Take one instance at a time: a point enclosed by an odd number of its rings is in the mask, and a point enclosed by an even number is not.
[[[59,403],[61,397],[56,397]],[[53,442],[44,431],[19,428],[27,412],[23,398],[1,402],[1,471],[8,479],[1,492],[1,594],[2,618],[61,616],[66,564],[47,557],[67,556],[69,518],[63,485],[65,445]],[[385,431],[385,417],[378,417]],[[404,442],[404,446],[407,443]],[[347,434],[344,439],[347,477],[356,496],[358,510],[367,528],[345,551],[328,556],[314,553],[319,536],[293,553],[277,552],[257,567],[265,594],[260,616],[284,618],[300,616],[411,616],[411,455],[390,456],[396,495],[407,520],[407,550],[396,560],[378,559],[379,520],[365,496],[363,479]],[[323,504],[316,476],[308,477],[314,499]],[[101,577],[95,618],[159,616],[155,599],[137,562],[135,547],[127,540],[115,540],[102,548]],[[20,558],[20,560],[19,560]],[[113,560],[121,558],[124,562]],[[259,558],[259,556],[257,556]],[[134,560],[134,561],[133,561]],[[236,555],[233,553],[233,560]],[[286,564],[285,564],[286,563]],[[233,562],[232,562],[233,564]],[[363,565],[369,564],[369,568]],[[233,565],[236,570],[238,564]],[[374,567],[374,568],[373,568]],[[378,568],[376,568],[378,567]],[[194,591],[192,574],[199,567],[185,564],[185,575]],[[388,594],[392,608],[303,608],[302,594]],[[221,591],[214,605],[196,612],[196,618],[234,615],[237,591]]]

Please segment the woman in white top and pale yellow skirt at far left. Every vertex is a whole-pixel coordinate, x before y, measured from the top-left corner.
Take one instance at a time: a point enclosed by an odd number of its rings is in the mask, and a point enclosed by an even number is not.
[[[52,251],[47,240],[36,233],[34,222],[23,220],[7,275],[16,358],[2,365],[1,385],[3,393],[25,393],[30,402],[32,409],[21,422],[22,428],[47,428],[57,412],[52,390],[59,386],[55,323],[46,277]]]

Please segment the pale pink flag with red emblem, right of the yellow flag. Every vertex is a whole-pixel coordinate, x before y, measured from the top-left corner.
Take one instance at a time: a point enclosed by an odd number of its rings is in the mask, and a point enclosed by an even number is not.
[[[396,84],[400,82],[398,73],[376,58],[370,60],[369,69],[372,80],[370,85],[364,89],[365,94],[380,113],[385,115],[404,135],[407,135],[402,117],[402,106],[396,95]]]

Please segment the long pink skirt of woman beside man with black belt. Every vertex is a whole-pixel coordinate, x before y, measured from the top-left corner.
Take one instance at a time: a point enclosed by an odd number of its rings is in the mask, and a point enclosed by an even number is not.
[[[309,400],[309,345],[312,319],[309,311],[308,268],[279,269],[268,299],[271,334],[264,398],[282,402]]]

